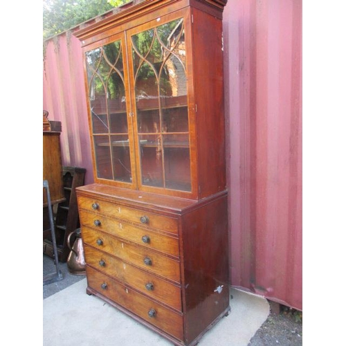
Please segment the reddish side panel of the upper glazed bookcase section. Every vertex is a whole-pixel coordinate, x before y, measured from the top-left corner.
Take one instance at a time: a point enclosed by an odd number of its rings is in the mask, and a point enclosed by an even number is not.
[[[194,9],[192,30],[199,194],[207,197],[226,187],[222,21]]]

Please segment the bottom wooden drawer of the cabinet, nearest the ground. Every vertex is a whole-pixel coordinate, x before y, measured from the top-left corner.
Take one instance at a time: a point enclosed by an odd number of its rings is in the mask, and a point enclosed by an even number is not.
[[[153,302],[145,295],[119,284],[116,280],[110,279],[89,266],[86,266],[86,277],[91,289],[98,291],[167,334],[183,340],[183,316],[181,313],[175,313],[161,304]]]

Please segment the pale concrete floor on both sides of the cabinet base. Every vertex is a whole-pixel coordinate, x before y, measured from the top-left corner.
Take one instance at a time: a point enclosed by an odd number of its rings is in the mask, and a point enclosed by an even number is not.
[[[172,345],[165,338],[93,295],[86,294],[84,275],[71,275],[60,264],[63,279],[44,285],[44,346]],[[44,255],[44,273],[55,271]],[[231,289],[230,314],[203,338],[200,346],[247,346],[270,313],[266,299]]]

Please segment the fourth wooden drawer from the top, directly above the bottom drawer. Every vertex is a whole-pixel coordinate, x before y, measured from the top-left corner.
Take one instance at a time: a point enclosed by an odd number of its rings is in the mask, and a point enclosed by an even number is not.
[[[181,289],[160,279],[159,277],[141,271],[131,264],[122,262],[116,257],[102,253],[95,248],[84,246],[86,263],[117,280],[134,287],[138,291],[181,311]]]

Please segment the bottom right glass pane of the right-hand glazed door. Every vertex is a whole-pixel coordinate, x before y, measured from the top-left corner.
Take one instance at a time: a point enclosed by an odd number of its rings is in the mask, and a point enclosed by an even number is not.
[[[190,149],[188,135],[164,135],[165,187],[191,190]]]

